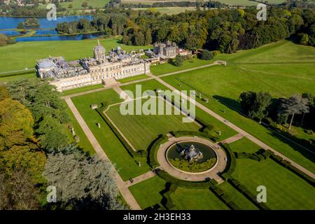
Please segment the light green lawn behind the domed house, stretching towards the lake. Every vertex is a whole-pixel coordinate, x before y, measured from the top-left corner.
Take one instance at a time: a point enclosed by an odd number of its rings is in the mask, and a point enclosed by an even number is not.
[[[99,41],[107,50],[116,48],[118,45],[127,51],[151,48],[151,46],[124,45],[120,43],[120,39],[120,37],[103,38]],[[0,60],[14,63],[3,63],[0,72],[34,68],[37,59],[42,59],[49,55],[63,56],[67,60],[92,57],[95,45],[97,45],[97,40],[95,39],[83,41],[34,41],[6,45],[0,48]]]

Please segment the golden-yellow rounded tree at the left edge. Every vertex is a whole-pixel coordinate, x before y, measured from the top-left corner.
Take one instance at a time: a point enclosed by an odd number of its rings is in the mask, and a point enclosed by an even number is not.
[[[20,102],[3,99],[0,102],[0,150],[14,145],[27,145],[33,139],[34,120]]]

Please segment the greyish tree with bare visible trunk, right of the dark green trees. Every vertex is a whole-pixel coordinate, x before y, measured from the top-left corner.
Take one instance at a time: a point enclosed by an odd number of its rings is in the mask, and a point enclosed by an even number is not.
[[[290,125],[288,127],[288,130],[290,130],[295,114],[309,112],[309,100],[302,98],[299,94],[294,94],[288,99],[281,99],[280,111],[291,115]]]

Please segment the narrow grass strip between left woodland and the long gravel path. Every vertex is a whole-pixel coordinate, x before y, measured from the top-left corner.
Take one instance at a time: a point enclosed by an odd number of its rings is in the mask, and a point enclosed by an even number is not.
[[[66,113],[68,113],[70,124],[72,125],[74,132],[76,132],[76,135],[80,138],[80,141],[78,142],[78,146],[83,149],[85,152],[89,152],[90,155],[95,154],[93,146],[90,144],[89,139],[87,139],[85,133],[83,132],[82,128],[78,124],[78,121],[73,116],[72,111],[69,109],[69,106],[66,105]],[[69,131],[69,128],[66,127],[69,132],[69,141],[74,142],[73,136],[71,132]]]

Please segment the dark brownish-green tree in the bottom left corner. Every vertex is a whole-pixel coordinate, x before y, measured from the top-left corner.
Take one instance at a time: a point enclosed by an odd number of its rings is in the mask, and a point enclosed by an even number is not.
[[[10,176],[0,173],[0,210],[39,209],[39,190],[31,176],[22,169],[15,169]]]

